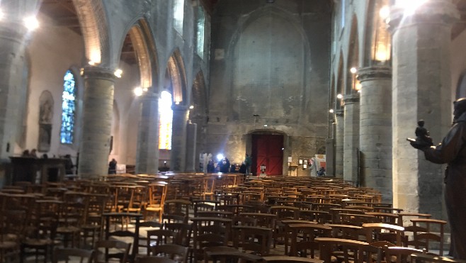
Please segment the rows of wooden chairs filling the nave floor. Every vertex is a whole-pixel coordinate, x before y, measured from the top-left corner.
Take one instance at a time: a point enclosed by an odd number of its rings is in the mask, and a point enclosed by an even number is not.
[[[457,262],[445,221],[330,177],[118,174],[0,200],[0,262]]]

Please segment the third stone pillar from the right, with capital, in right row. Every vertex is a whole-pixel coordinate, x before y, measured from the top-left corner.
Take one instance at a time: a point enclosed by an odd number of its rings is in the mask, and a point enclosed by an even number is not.
[[[359,94],[343,96],[345,131],[343,133],[343,179],[359,185]]]

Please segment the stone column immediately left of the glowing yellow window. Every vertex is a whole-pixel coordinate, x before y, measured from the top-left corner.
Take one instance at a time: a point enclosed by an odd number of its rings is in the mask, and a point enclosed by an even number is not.
[[[136,172],[157,174],[159,171],[159,96],[152,89],[142,96],[140,111]]]

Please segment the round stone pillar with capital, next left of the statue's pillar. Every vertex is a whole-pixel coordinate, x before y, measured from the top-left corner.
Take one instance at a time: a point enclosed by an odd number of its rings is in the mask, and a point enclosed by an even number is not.
[[[360,90],[361,185],[380,191],[392,202],[392,69],[358,70]]]

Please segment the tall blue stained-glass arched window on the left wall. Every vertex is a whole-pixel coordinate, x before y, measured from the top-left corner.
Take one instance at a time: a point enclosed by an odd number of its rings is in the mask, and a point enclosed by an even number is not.
[[[76,82],[71,71],[67,71],[63,78],[62,94],[62,128],[60,130],[60,142],[73,143],[74,135],[74,113],[76,111]]]

